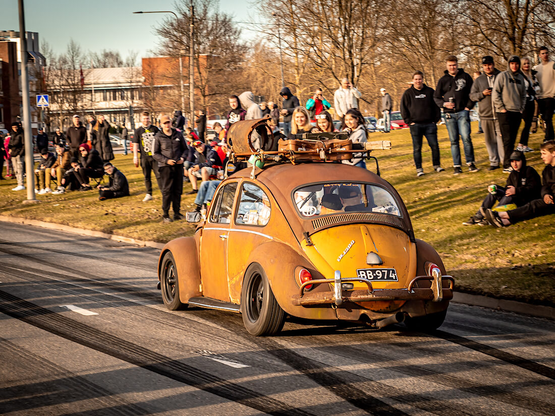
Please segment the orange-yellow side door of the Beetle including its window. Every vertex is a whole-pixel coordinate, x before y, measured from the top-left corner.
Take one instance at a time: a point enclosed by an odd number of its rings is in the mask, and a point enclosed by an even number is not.
[[[212,200],[200,240],[200,278],[203,296],[229,302],[227,251],[238,182],[220,187]]]

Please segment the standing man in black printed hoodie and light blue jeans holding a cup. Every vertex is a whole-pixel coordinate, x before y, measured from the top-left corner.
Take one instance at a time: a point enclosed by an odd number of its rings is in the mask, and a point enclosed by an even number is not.
[[[459,135],[465,149],[465,159],[469,172],[477,172],[474,161],[474,148],[470,138],[470,110],[474,103],[470,99],[472,77],[458,67],[455,55],[446,59],[445,75],[437,83],[433,94],[439,108],[443,108],[446,117],[447,133],[451,141],[451,156],[453,157],[453,175],[462,173],[461,149],[458,145]]]

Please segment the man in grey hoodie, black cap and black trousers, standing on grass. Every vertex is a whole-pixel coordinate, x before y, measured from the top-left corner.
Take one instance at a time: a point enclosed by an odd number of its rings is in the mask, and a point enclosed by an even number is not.
[[[520,58],[516,55],[509,58],[508,69],[495,79],[492,100],[503,137],[503,172],[510,173],[512,168],[508,156],[513,153],[522,111],[526,105],[524,75],[520,72]]]

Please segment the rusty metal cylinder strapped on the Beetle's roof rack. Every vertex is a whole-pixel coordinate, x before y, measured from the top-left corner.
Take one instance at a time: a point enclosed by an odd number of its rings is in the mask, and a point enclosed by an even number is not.
[[[267,121],[263,119],[242,120],[232,124],[228,131],[228,143],[234,153],[257,153],[259,150],[278,150],[278,140],[274,138]]]

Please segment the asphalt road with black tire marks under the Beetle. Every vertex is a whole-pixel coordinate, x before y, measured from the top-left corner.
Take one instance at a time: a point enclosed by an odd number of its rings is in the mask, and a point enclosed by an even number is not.
[[[452,304],[429,334],[290,319],[255,338],[239,314],[165,310],[157,260],[0,222],[0,414],[555,414],[552,321]]]

